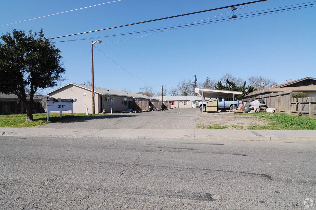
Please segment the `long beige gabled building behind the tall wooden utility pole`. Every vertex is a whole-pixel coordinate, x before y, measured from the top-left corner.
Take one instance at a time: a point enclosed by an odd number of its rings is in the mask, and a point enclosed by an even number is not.
[[[94,87],[94,110],[95,113],[127,111],[130,101],[150,101],[158,102],[157,99],[139,94],[128,93],[125,91],[112,90],[102,87]],[[73,104],[74,112],[92,112],[92,86],[76,83],[69,83],[47,93],[50,98],[55,99],[77,99]],[[64,111],[71,112],[71,111]]]

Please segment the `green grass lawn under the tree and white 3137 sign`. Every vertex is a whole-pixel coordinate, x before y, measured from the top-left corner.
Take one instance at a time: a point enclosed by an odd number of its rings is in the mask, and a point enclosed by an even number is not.
[[[92,116],[92,115],[89,115]],[[72,118],[72,117],[88,117],[85,113],[74,113],[74,116],[71,116],[71,113],[63,113],[63,118],[60,118],[60,113],[50,113],[49,121],[46,121],[46,113],[44,114],[33,114],[34,121],[25,122],[26,114],[20,115],[0,115],[0,127],[32,127],[36,125],[44,125],[50,122],[58,121],[61,119]]]

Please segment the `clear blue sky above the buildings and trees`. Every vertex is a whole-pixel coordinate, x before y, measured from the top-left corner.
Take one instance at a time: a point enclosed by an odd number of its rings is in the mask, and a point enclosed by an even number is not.
[[[250,1],[106,2],[111,1],[3,1],[0,7],[0,31],[1,33],[6,33],[10,29],[39,31],[43,28],[45,37],[52,38]],[[164,86],[166,88],[176,87],[180,80],[192,80],[194,75],[197,76],[198,82],[203,82],[206,77],[219,80],[225,73],[231,73],[244,80],[251,75],[265,76],[275,79],[277,83],[307,76],[315,78],[316,7],[238,18],[249,12],[308,2],[316,3],[308,0],[268,0],[254,5],[238,6],[238,10],[234,11],[237,18],[228,19],[229,21],[156,31],[160,33],[146,32],[106,37],[185,25],[208,18],[211,18],[208,20],[226,19],[233,13],[224,14],[231,9],[220,9],[52,39],[64,57],[66,74],[65,80],[60,84],[91,81],[90,41],[97,39],[102,40],[101,44],[94,47],[94,85],[97,87],[118,90],[125,88],[139,92],[140,87],[150,85],[160,92],[163,84],[166,84]],[[106,4],[52,15],[101,3]],[[51,16],[23,21],[46,15]],[[17,21],[23,22],[2,26]],[[155,34],[148,35],[151,33]],[[85,40],[67,41],[74,39]],[[46,89],[44,93],[52,90]]]

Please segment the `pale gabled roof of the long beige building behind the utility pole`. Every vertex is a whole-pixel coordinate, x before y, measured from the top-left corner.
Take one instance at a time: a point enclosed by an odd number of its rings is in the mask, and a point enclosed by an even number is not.
[[[82,84],[76,84],[76,83],[69,83],[67,85],[64,85],[62,87],[59,87],[49,93],[47,93],[48,95],[49,94],[52,94],[53,92],[59,90],[59,89],[62,89],[66,86],[77,86],[77,87],[81,87],[83,89],[86,89],[88,91],[92,91],[92,86],[90,85],[82,85]],[[108,88],[102,88],[102,87],[95,87],[94,86],[94,92],[95,93],[98,93],[98,94],[101,94],[101,95],[117,95],[117,96],[126,96],[126,97],[132,97],[132,98],[141,98],[141,99],[149,99],[149,100],[156,100],[155,98],[153,97],[149,97],[149,96],[146,96],[146,95],[143,95],[143,94],[139,94],[139,93],[128,93],[128,92],[125,92],[125,91],[120,91],[120,90],[112,90],[112,89],[108,89]]]

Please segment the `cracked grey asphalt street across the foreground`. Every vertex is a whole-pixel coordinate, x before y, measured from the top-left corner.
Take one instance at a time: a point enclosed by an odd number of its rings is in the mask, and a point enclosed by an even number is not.
[[[315,142],[2,136],[0,145],[0,209],[305,209],[316,200]]]

